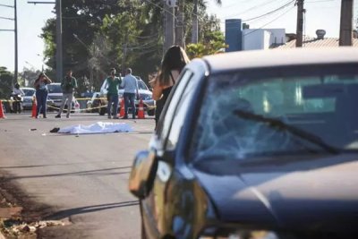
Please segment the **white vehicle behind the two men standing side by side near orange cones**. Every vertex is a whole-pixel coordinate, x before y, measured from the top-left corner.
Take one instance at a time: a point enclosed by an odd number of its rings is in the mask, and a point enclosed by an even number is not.
[[[138,80],[138,88],[140,97],[143,101],[143,107],[144,111],[147,112],[148,115],[154,115],[155,114],[155,101],[152,98],[152,92],[149,90],[148,86],[144,81],[141,80],[141,77],[135,76]],[[122,78],[123,79],[123,78]],[[106,81],[103,82],[101,86],[101,91],[98,93],[94,93],[92,99],[90,99],[90,102],[88,102],[88,107],[95,107],[95,111],[99,113],[99,115],[105,115],[107,113],[107,90],[106,90]],[[119,98],[123,98],[124,95],[124,89],[122,87],[119,87],[118,90]],[[121,100],[119,100],[118,103],[118,112],[121,110]],[[100,107],[103,106],[103,107]],[[100,108],[96,108],[100,107]],[[135,99],[135,107],[138,109],[139,107],[139,100]],[[132,111],[131,108],[129,108],[130,111]]]

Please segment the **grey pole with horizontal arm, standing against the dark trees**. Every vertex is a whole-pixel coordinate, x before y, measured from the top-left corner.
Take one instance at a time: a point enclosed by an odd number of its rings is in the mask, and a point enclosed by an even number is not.
[[[62,0],[55,0],[55,2],[44,1],[28,1],[28,4],[55,4],[56,12],[56,79],[62,80],[63,74],[63,49],[62,49]]]

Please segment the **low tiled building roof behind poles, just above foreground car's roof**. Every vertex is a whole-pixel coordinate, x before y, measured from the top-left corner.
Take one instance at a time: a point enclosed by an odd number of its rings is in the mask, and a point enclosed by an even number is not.
[[[358,38],[353,38],[353,47],[358,47]],[[296,39],[286,42],[285,45],[276,47],[278,49],[296,47]],[[306,38],[303,40],[303,47],[339,47],[339,38]]]

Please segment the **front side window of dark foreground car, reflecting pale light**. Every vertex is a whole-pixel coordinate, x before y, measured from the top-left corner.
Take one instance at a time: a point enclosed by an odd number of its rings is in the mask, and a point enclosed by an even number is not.
[[[190,78],[192,80],[192,76]],[[183,123],[185,121],[186,113],[189,107],[192,105],[192,97],[195,91],[195,81],[189,81],[185,87],[182,95],[182,99],[179,101],[178,106],[173,115],[173,123],[169,132],[169,136],[166,142],[167,149],[175,149],[178,142],[180,132],[182,131]]]

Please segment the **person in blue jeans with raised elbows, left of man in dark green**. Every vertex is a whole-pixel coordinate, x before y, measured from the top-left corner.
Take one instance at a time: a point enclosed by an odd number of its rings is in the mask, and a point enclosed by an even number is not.
[[[36,89],[36,102],[38,104],[37,110],[36,110],[36,118],[38,118],[38,114],[41,110],[41,113],[43,114],[44,118],[47,118],[47,84],[52,83],[51,79],[47,77],[45,73],[40,73],[38,75],[38,79],[36,79],[34,86]]]

